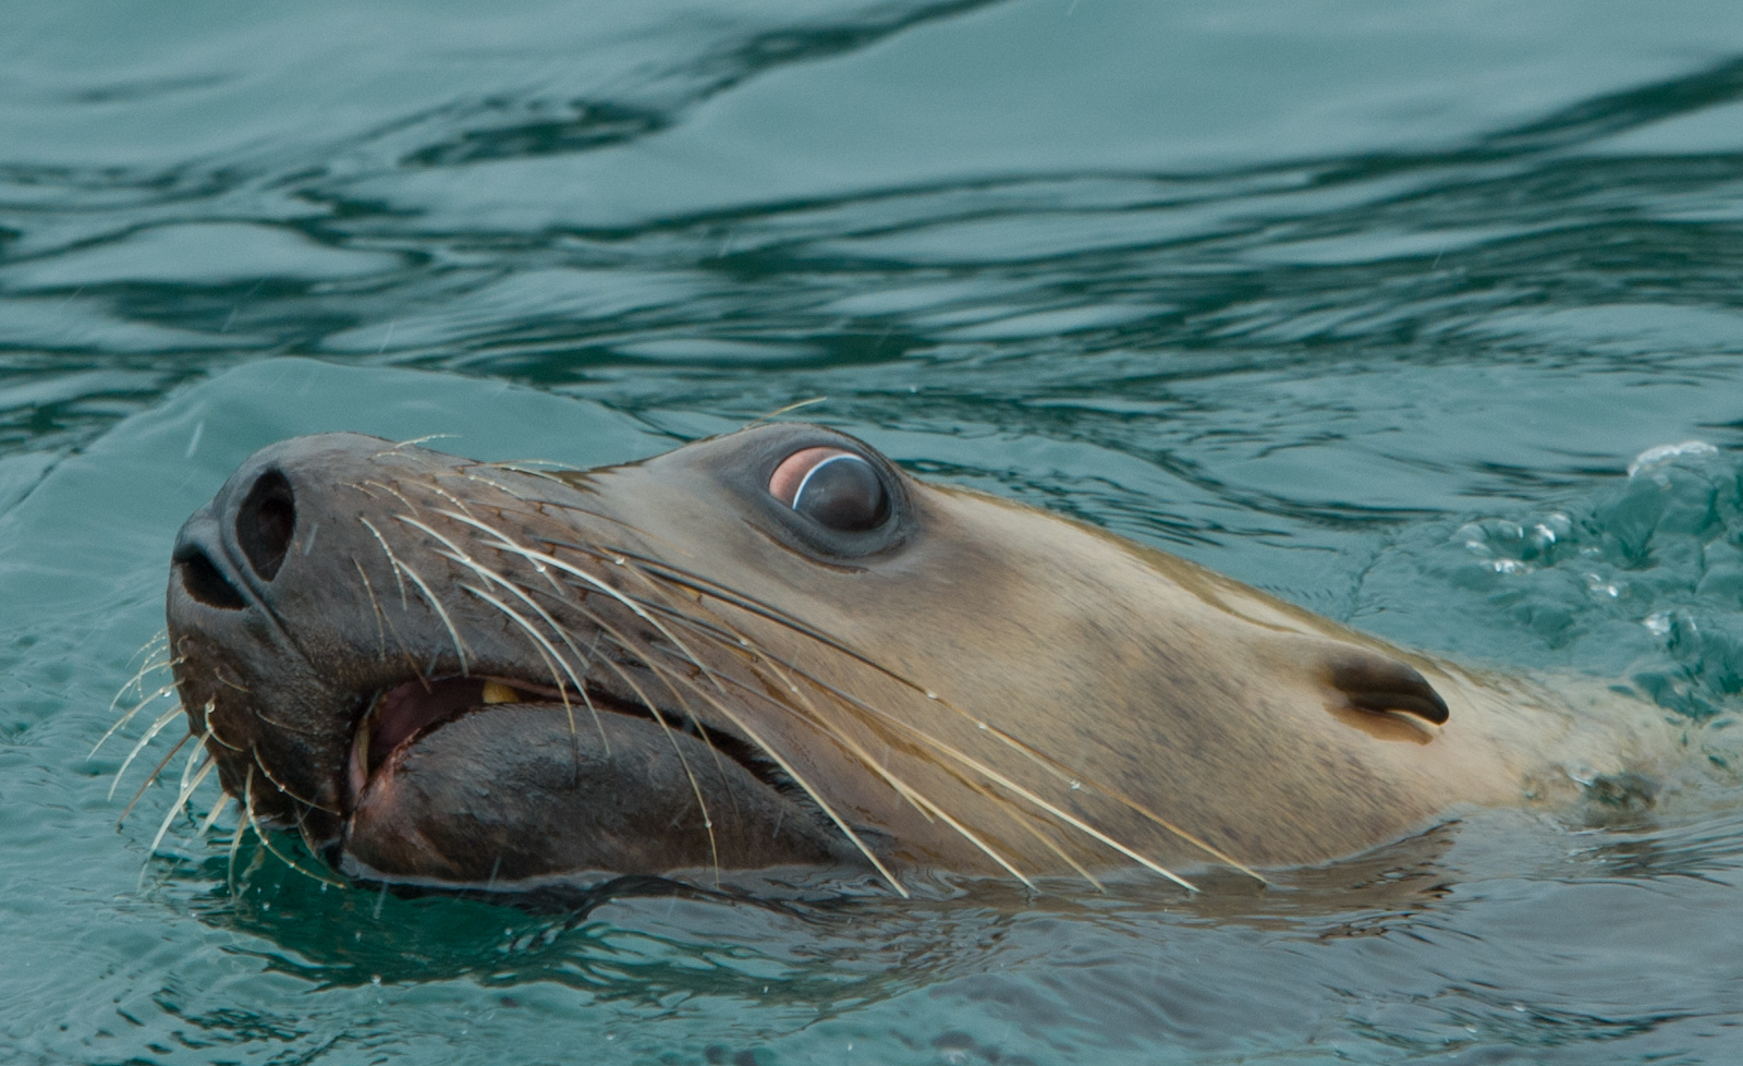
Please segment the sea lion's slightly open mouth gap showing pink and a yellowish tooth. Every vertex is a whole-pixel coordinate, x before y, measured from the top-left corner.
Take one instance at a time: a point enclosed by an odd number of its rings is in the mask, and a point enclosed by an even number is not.
[[[504,703],[561,705],[573,708],[577,721],[589,714],[617,714],[659,722],[673,733],[704,741],[720,755],[737,762],[756,780],[784,796],[804,796],[800,789],[772,759],[749,741],[720,728],[702,728],[694,717],[641,703],[621,700],[587,686],[587,694],[558,689],[549,684],[507,677],[443,677],[434,680],[408,680],[380,689],[368,700],[357,719],[347,764],[347,808],[370,787],[396,754],[415,747],[422,738],[448,722],[486,707]]]

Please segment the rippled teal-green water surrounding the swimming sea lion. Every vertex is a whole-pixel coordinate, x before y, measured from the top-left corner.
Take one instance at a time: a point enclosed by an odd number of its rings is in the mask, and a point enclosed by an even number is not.
[[[1717,0],[17,0],[0,1049],[1738,1061],[1740,204]],[[167,745],[113,801],[129,743],[85,754],[176,527],[254,447],[608,462],[817,398],[926,476],[1389,639],[1621,679],[1713,783],[1199,899],[572,916],[251,843],[232,890],[228,818],[148,860],[180,766],[113,830]]]

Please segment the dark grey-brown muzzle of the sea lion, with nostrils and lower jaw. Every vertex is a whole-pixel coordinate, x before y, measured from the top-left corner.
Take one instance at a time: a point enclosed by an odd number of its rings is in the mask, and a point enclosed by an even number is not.
[[[225,789],[336,864],[389,878],[849,858],[772,761],[610,649],[614,626],[645,628],[633,611],[607,602],[589,611],[608,619],[560,623],[586,581],[514,588],[511,572],[540,565],[483,527],[516,515],[521,537],[563,494],[580,497],[352,434],[244,464],[188,518],[169,588],[176,679]],[[406,532],[437,555],[404,546]],[[533,626],[558,628],[528,640]]]

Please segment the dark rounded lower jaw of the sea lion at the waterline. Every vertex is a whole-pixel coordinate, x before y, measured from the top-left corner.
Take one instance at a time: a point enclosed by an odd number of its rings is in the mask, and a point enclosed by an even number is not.
[[[856,858],[810,810],[685,733],[560,703],[502,703],[392,752],[357,792],[340,867],[481,886]]]

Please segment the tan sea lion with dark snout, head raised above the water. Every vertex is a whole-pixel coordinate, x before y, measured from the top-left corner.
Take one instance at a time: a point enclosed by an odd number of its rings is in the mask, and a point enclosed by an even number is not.
[[[558,473],[282,441],[187,522],[167,614],[223,787],[383,881],[1262,876],[1661,747],[1600,686],[1405,653],[809,424]]]

